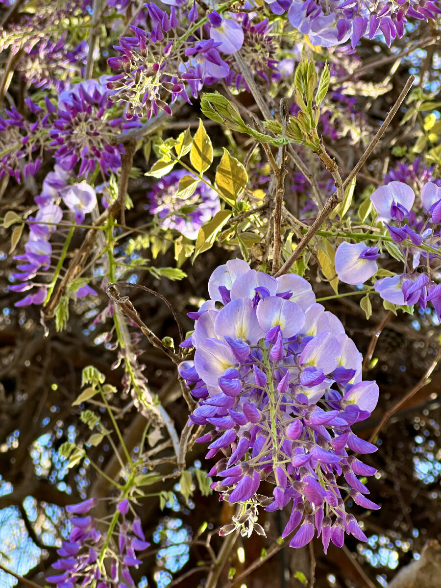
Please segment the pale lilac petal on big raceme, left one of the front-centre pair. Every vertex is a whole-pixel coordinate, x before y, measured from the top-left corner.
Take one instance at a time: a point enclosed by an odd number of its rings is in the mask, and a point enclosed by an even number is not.
[[[232,339],[247,341],[250,345],[256,345],[265,336],[256,319],[252,300],[247,298],[238,298],[225,305],[215,318],[214,330],[218,337],[228,335]]]

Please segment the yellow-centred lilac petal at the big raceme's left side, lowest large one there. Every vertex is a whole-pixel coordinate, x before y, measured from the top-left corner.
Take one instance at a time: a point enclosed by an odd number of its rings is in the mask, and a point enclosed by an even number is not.
[[[218,339],[203,339],[195,353],[195,368],[199,377],[209,386],[217,386],[219,377],[239,362],[226,343]]]

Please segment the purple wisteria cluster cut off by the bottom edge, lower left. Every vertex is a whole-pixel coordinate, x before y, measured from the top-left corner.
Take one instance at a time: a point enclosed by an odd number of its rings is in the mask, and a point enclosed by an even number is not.
[[[66,511],[70,515],[86,515],[96,505],[98,499],[89,498],[78,505],[66,506]],[[131,568],[138,568],[142,563],[136,552],[147,549],[150,543],[145,540],[139,517],[132,521],[126,517],[129,501],[122,500],[116,509],[118,522],[112,529],[115,536],[112,534],[111,537],[104,532],[103,527],[107,525],[92,515],[69,518],[73,529],[68,541],[64,541],[57,551],[60,559],[52,564],[61,573],[48,576],[47,582],[56,584],[58,588],[135,586]]]

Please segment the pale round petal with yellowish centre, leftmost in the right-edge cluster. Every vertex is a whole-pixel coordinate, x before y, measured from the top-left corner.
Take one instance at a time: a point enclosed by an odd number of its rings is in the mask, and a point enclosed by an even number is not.
[[[366,250],[364,243],[343,242],[335,252],[335,270],[341,282],[356,286],[366,282],[377,272],[377,263],[372,259],[360,259]]]

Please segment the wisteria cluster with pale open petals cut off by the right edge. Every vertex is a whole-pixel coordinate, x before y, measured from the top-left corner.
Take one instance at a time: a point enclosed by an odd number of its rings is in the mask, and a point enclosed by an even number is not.
[[[435,182],[425,183],[416,211],[412,211],[415,192],[403,182],[380,186],[370,200],[378,213],[376,221],[386,226],[404,262],[402,273],[377,279],[374,289],[383,300],[399,306],[418,303],[424,310],[430,301],[441,320],[441,285],[435,281],[439,280],[441,259],[441,188]],[[366,282],[376,275],[379,257],[379,248],[364,242],[342,243],[335,255],[339,279],[352,285]]]

